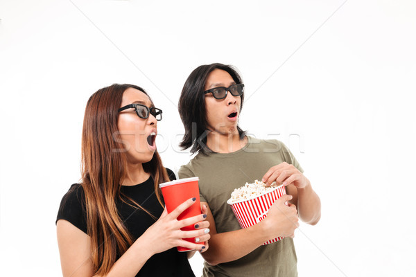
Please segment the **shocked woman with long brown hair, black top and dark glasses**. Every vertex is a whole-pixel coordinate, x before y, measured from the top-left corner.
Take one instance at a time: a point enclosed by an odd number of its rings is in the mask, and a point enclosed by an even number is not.
[[[57,217],[64,276],[194,276],[187,253],[175,247],[207,250],[207,243],[182,240],[209,240],[207,209],[178,221],[195,199],[169,214],[163,208],[158,185],[174,175],[156,151],[161,119],[162,110],[135,85],[113,84],[89,98],[82,179],[62,198]],[[180,230],[189,224],[198,229]]]

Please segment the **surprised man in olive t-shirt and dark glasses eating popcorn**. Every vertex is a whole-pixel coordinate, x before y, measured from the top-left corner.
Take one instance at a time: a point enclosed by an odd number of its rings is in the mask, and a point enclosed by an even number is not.
[[[202,254],[207,261],[203,273],[295,277],[294,232],[299,219],[312,225],[320,220],[320,199],[286,145],[247,136],[239,127],[243,100],[243,81],[233,66],[225,64],[198,66],[179,100],[185,129],[180,146],[197,154],[178,174],[199,177],[200,201],[207,205],[211,222],[210,247]],[[252,116],[258,124],[273,122],[263,118],[259,109]],[[277,199],[264,220],[241,229],[227,199],[235,188],[255,179],[284,184],[288,195]],[[261,246],[277,237],[286,238]]]

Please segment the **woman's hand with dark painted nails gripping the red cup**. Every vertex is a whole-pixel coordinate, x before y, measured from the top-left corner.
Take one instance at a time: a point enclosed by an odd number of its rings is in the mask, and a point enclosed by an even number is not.
[[[153,253],[160,253],[171,249],[173,247],[187,247],[196,251],[205,250],[205,246],[192,242],[182,240],[182,238],[200,238],[200,242],[209,239],[209,223],[205,223],[206,214],[196,215],[184,220],[177,220],[177,217],[184,212],[187,208],[195,204],[196,199],[188,199],[184,203],[180,204],[171,213],[168,213],[166,208],[164,209],[159,220],[150,226],[141,238],[142,241],[148,242],[148,247]],[[200,224],[198,230],[195,231],[182,231],[181,228],[191,224]],[[204,248],[203,248],[204,247]]]

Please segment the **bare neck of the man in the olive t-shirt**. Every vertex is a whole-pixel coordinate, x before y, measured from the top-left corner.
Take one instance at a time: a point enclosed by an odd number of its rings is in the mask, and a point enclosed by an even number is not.
[[[232,153],[240,150],[247,143],[247,138],[240,139],[239,132],[233,134],[220,134],[209,132],[207,147],[217,153]]]

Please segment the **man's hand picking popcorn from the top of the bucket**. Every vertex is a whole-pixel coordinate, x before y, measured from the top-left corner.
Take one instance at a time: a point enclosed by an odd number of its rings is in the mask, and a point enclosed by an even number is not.
[[[311,184],[302,172],[297,170],[295,166],[286,162],[270,168],[261,181],[268,186],[270,186],[273,181],[276,181],[278,185],[288,186],[293,184],[296,188],[305,188]]]

